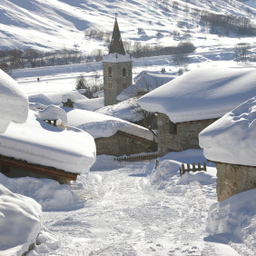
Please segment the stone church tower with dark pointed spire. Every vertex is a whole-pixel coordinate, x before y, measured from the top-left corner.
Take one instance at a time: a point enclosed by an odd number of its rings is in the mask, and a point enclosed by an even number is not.
[[[109,54],[103,57],[104,105],[117,103],[116,96],[133,84],[133,60],[123,47],[119,26],[115,18]]]

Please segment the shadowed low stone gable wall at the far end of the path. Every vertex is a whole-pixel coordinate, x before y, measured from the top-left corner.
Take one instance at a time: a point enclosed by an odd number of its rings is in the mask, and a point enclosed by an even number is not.
[[[152,141],[122,132],[117,132],[108,138],[95,139],[95,143],[97,154],[121,156],[123,154],[153,152]]]

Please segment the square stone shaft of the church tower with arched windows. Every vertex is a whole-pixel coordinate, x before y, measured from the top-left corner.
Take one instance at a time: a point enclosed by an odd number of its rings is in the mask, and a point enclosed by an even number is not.
[[[133,62],[124,63],[103,63],[103,87],[104,87],[104,105],[113,105],[117,103],[116,96],[124,88],[133,84]],[[112,68],[111,77],[108,74],[108,68]],[[123,76],[123,68],[126,73]],[[111,84],[111,86],[110,86]]]

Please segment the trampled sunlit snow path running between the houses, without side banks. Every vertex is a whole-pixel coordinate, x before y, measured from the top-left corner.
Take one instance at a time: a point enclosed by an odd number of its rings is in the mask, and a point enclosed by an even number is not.
[[[209,202],[199,185],[182,186],[180,192],[156,190],[139,173],[144,165],[81,176],[73,190],[84,197],[85,207],[44,212],[45,230],[59,242],[48,238],[36,251],[40,255],[238,255],[228,245],[203,241]]]

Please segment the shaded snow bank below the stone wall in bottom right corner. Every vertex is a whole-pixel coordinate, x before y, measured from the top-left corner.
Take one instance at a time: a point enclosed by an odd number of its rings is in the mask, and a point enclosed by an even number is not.
[[[215,202],[209,209],[206,231],[236,236],[253,254],[256,251],[256,190]],[[250,254],[250,255],[252,255]],[[248,254],[249,255],[249,254]]]

